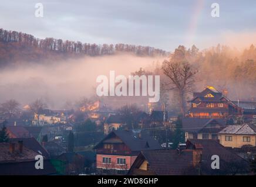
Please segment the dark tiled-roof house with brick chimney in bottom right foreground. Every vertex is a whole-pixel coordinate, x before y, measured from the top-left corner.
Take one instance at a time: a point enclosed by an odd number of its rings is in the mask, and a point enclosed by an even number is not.
[[[211,168],[212,155],[220,158],[220,169]],[[187,140],[186,149],[141,151],[128,175],[241,175],[250,165],[217,140]]]

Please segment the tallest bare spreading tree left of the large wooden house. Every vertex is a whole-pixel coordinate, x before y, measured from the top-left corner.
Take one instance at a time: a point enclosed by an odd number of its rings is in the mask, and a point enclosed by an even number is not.
[[[162,65],[164,74],[170,82],[166,82],[167,89],[174,90],[178,93],[180,110],[183,116],[186,113],[186,95],[191,92],[194,85],[194,75],[197,73],[193,70],[187,61],[167,61]]]

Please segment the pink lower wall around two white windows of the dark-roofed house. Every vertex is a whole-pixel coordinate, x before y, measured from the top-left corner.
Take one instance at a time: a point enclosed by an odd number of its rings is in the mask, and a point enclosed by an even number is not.
[[[111,164],[104,164],[103,157],[111,158]],[[117,164],[117,158],[126,158],[126,165]],[[102,169],[130,169],[133,162],[136,160],[137,156],[130,155],[105,155],[105,154],[97,154],[96,155],[96,168]]]

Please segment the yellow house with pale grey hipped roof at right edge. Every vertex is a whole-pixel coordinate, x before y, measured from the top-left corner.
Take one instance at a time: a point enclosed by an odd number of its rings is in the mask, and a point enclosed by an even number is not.
[[[251,123],[235,124],[225,127],[219,133],[220,143],[225,147],[241,148],[256,146],[256,125]]]

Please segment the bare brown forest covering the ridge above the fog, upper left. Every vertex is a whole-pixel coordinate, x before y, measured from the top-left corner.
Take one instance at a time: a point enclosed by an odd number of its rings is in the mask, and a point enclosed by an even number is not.
[[[61,60],[66,57],[102,56],[116,53],[137,56],[167,56],[167,52],[149,46],[130,44],[89,44],[62,39],[38,39],[31,34],[0,29],[0,65],[20,61]]]

